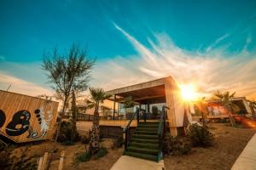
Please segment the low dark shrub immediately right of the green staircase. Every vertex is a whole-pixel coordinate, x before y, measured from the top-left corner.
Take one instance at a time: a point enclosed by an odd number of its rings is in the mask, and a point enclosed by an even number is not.
[[[188,136],[172,137],[166,133],[164,140],[164,153],[167,155],[184,155],[191,150],[191,140]]]

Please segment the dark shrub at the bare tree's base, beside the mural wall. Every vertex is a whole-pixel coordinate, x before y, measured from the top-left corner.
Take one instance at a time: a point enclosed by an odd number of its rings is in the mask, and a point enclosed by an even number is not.
[[[57,141],[63,144],[73,144],[80,139],[79,133],[76,133],[73,140],[73,126],[71,122],[61,122],[61,130]]]

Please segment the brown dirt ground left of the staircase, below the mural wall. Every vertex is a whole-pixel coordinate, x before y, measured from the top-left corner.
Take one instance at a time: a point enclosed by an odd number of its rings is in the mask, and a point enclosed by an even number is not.
[[[30,157],[39,160],[40,156],[44,155],[44,152],[52,149],[52,142],[43,142],[40,144],[28,144],[15,148],[12,153],[15,156],[21,156],[22,152],[26,152],[26,157]],[[53,161],[50,164],[49,169],[55,170],[58,168],[61,151],[65,151],[64,170],[78,170],[78,169],[90,169],[90,170],[108,170],[113,166],[113,163],[119,159],[119,156],[123,154],[123,148],[112,149],[113,140],[103,139],[101,142],[102,147],[108,149],[107,156],[103,156],[99,159],[92,159],[86,162],[76,163],[74,160],[77,153],[85,151],[84,144],[78,143],[73,145],[56,144],[57,152],[53,155]],[[88,148],[88,146],[87,146]]]

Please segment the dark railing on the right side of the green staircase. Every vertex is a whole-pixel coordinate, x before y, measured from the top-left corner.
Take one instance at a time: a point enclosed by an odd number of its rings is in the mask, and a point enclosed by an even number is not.
[[[169,109],[167,106],[162,107],[162,113],[160,115],[160,125],[158,127],[157,135],[159,139],[159,152],[157,156],[157,161],[160,161],[163,158],[163,146],[164,146],[164,139],[166,133],[166,109]]]

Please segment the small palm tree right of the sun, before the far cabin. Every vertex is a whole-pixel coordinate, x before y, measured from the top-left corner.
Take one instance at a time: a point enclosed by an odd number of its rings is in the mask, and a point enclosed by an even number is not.
[[[230,92],[221,93],[217,90],[213,93],[213,99],[219,99],[222,105],[224,105],[224,107],[233,114],[234,111],[240,110],[239,107],[235,105],[232,101],[232,99],[234,99],[235,94],[236,92],[230,94]]]

